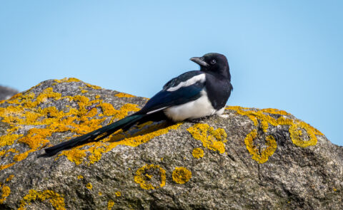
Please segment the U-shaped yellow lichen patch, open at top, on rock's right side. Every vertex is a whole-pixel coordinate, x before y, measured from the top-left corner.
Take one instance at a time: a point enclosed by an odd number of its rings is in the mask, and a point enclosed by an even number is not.
[[[274,137],[271,135],[266,137],[266,145],[267,148],[258,149],[254,145],[254,140],[257,138],[257,130],[252,130],[244,140],[244,143],[249,151],[252,154],[252,159],[257,161],[258,163],[262,164],[267,162],[268,158],[274,154],[275,150],[277,149],[277,142],[275,141]]]

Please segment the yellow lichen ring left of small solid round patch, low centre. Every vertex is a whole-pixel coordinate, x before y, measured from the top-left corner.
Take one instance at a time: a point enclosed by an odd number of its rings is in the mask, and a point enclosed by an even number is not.
[[[166,184],[166,171],[159,165],[146,164],[139,168],[134,176],[134,182],[142,189],[157,189]]]

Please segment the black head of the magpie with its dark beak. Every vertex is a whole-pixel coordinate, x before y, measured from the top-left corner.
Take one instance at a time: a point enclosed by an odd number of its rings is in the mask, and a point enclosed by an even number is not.
[[[207,53],[202,57],[193,57],[191,61],[200,65],[200,70],[217,73],[231,80],[227,57],[219,53]]]

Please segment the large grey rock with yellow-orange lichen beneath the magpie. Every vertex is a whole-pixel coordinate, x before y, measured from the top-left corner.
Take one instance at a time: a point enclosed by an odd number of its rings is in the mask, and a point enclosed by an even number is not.
[[[343,209],[343,148],[282,110],[228,106],[39,157],[147,100],[65,78],[0,101],[0,209]]]

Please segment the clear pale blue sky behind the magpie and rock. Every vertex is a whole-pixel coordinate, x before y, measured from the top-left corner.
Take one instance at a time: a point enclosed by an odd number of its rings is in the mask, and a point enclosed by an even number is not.
[[[0,85],[75,77],[150,98],[227,56],[228,105],[273,107],[337,145],[343,119],[343,1],[0,1]],[[341,124],[342,123],[342,124]]]

